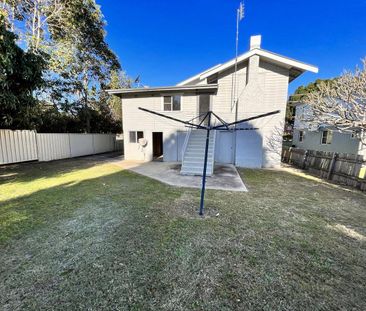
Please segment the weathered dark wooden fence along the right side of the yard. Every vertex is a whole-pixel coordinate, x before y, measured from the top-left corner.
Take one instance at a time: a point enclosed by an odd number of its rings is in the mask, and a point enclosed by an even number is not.
[[[282,162],[311,174],[366,191],[366,161],[362,155],[284,148]]]

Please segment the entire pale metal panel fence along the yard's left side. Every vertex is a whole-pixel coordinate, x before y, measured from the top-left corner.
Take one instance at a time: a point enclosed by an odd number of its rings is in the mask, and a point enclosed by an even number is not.
[[[0,165],[52,161],[115,151],[115,134],[59,134],[0,130]]]

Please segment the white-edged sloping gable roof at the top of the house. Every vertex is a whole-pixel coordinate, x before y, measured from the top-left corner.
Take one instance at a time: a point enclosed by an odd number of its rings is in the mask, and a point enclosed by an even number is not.
[[[258,55],[258,56],[260,56],[261,59],[263,59],[267,62],[274,63],[281,67],[288,68],[290,70],[290,81],[294,80],[295,78],[297,78],[299,75],[301,75],[305,71],[311,71],[314,73],[318,72],[318,68],[313,65],[309,65],[309,64],[297,61],[295,59],[292,59],[292,58],[289,58],[286,56],[282,56],[282,55],[279,55],[279,54],[276,54],[276,53],[273,53],[273,52],[270,52],[267,50],[263,50],[261,48],[253,48],[253,49],[249,50],[248,52],[241,54],[240,56],[238,56],[237,61],[238,61],[238,63],[241,63],[243,61],[248,60],[253,55]],[[183,85],[190,84],[191,82],[196,81],[196,80],[206,79],[209,76],[212,76],[216,73],[220,73],[220,72],[227,70],[234,66],[235,66],[235,58],[229,60],[228,62],[226,62],[224,64],[216,65],[193,77],[190,77],[190,78],[178,83],[177,86],[183,86]]]

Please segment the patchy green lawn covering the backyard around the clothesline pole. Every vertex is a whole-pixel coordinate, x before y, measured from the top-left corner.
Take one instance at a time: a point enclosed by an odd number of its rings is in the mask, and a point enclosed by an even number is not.
[[[366,310],[366,196],[242,170],[178,189],[74,159],[0,168],[1,310]]]

